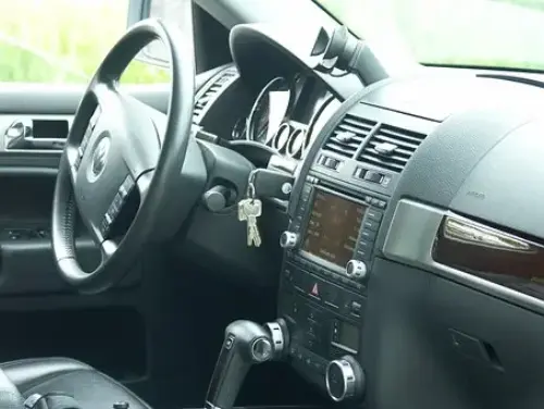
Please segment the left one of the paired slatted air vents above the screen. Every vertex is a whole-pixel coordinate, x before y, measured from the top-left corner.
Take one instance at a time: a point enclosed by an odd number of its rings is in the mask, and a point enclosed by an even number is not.
[[[323,150],[345,158],[354,158],[362,141],[370,135],[376,123],[373,121],[348,113],[333,131],[323,146]]]

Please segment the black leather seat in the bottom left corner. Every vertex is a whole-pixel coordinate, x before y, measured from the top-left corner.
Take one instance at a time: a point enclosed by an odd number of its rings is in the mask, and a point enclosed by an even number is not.
[[[24,398],[29,395],[50,392],[72,395],[83,409],[109,409],[116,401],[127,401],[131,409],[150,409],[123,385],[73,359],[23,359],[0,363],[0,408],[21,409]]]

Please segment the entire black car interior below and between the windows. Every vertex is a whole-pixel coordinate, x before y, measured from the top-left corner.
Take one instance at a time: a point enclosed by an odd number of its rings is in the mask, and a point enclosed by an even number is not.
[[[544,79],[248,2],[0,89],[0,408],[542,408]]]

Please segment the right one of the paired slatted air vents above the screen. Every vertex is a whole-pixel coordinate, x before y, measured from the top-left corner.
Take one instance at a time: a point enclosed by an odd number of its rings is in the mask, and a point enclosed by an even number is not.
[[[400,173],[424,138],[423,134],[383,124],[357,159]]]

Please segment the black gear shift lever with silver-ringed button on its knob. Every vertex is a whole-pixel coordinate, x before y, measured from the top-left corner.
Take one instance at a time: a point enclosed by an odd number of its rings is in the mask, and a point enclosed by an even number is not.
[[[272,359],[270,332],[251,321],[234,321],[225,330],[218,363],[211,377],[206,408],[231,409],[249,368]]]

